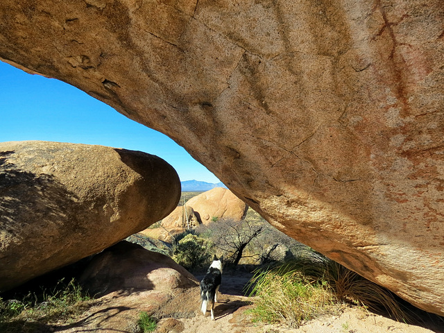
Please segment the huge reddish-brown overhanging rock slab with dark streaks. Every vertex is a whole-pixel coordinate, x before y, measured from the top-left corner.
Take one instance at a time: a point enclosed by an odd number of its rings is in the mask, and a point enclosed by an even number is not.
[[[169,135],[289,236],[444,314],[441,0],[0,13],[0,58]]]

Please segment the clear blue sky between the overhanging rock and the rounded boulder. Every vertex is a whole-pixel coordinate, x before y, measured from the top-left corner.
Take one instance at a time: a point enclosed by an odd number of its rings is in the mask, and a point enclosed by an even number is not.
[[[60,80],[0,62],[0,142],[44,140],[100,144],[162,157],[180,180],[219,182],[173,142]]]

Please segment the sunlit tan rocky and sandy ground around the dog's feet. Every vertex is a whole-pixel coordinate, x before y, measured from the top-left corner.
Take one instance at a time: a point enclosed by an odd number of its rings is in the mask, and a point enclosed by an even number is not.
[[[176,289],[174,296],[162,290],[116,292],[108,294],[89,308],[76,321],[36,327],[34,332],[100,332],[136,333],[137,318],[147,311],[162,318],[157,333],[444,333],[444,321],[435,327],[398,323],[357,307],[346,307],[335,316],[323,316],[304,323],[298,329],[284,325],[252,323],[248,308],[254,298],[242,296],[250,273],[234,272],[223,275],[223,284],[212,321],[210,313],[200,313],[199,289]],[[200,279],[201,276],[196,276]],[[440,325],[442,328],[440,328]]]

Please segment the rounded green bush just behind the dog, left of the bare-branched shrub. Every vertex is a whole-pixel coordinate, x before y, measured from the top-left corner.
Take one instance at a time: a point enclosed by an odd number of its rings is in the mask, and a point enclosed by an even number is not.
[[[187,269],[207,266],[212,256],[212,244],[207,239],[198,237],[195,234],[187,234],[173,246],[175,262]]]

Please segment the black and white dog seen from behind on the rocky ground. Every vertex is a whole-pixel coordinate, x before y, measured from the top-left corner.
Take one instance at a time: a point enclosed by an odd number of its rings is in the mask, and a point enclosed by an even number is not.
[[[217,292],[222,280],[222,261],[223,257],[217,259],[216,255],[213,257],[213,262],[208,268],[207,274],[200,282],[200,300],[202,300],[203,315],[207,313],[207,304],[211,303],[211,318],[214,321],[214,302],[217,302]]]

